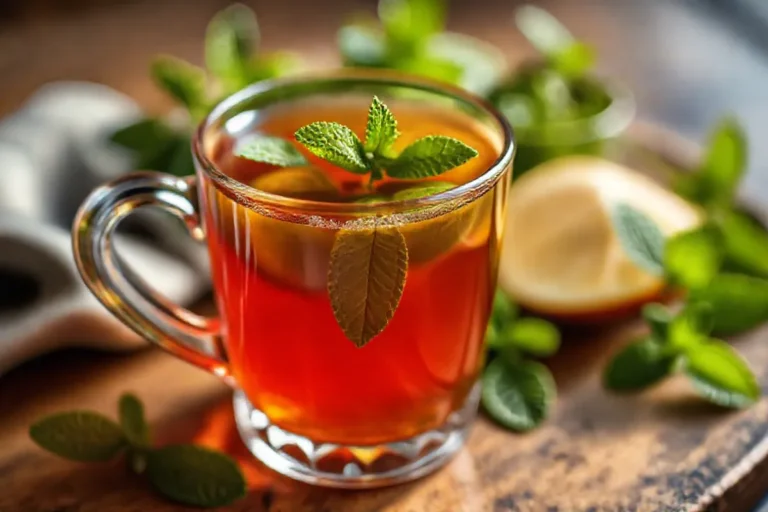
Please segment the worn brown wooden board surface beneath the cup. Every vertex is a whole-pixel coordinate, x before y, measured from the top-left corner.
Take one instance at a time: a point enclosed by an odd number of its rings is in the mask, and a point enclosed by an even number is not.
[[[37,417],[72,408],[115,415],[121,392],[146,402],[159,443],[194,441],[226,450],[246,471],[239,512],[746,512],[768,489],[768,400],[727,412],[673,379],[636,396],[600,388],[608,355],[638,326],[567,333],[552,361],[560,399],[527,435],[476,422],[467,447],[438,473],[398,487],[345,492],[279,477],[237,437],[229,391],[157,350],[131,356],[55,354],[0,379],[0,511],[170,512],[122,464],[84,465],[37,449]],[[734,340],[768,384],[768,329]]]

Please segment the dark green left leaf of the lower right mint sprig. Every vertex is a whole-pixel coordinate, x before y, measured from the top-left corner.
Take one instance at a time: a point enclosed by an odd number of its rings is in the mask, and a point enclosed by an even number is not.
[[[610,360],[603,372],[603,386],[619,393],[642,391],[672,374],[675,361],[654,338],[635,341]]]

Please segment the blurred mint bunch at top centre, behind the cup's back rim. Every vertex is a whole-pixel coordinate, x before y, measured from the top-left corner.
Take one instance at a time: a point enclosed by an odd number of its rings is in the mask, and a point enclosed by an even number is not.
[[[380,0],[378,19],[358,16],[338,33],[344,65],[390,68],[487,93],[503,68],[500,52],[445,32],[445,0]]]

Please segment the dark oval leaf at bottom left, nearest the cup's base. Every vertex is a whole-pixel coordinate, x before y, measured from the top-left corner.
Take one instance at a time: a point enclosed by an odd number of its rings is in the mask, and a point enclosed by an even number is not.
[[[245,479],[237,463],[200,446],[153,450],[146,473],[160,494],[184,505],[220,507],[245,496]]]

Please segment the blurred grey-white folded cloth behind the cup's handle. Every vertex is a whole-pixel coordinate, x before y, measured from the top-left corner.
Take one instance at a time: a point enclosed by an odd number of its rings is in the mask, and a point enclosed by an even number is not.
[[[87,290],[70,241],[86,195],[131,170],[108,138],[140,115],[108,87],[60,82],[0,121],[0,373],[64,346],[146,345]],[[121,259],[169,299],[199,299],[210,287],[204,248],[167,214],[135,217],[116,237]]]

